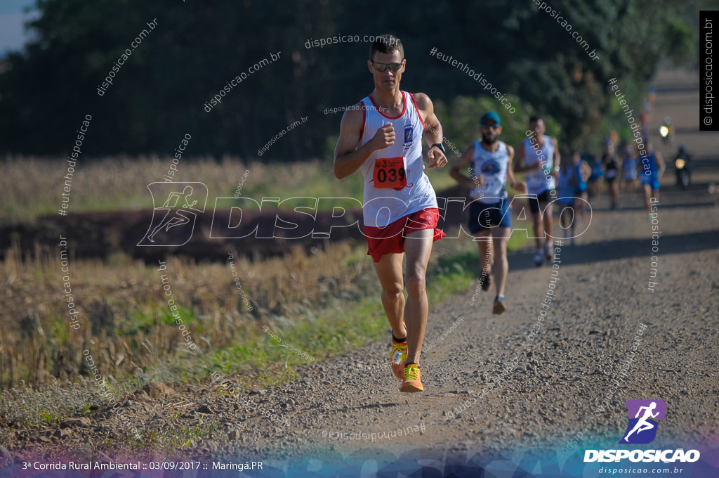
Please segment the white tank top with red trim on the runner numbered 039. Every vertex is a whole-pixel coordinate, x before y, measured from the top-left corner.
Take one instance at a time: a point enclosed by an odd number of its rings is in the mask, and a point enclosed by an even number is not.
[[[413,212],[437,207],[437,198],[429,178],[424,173],[422,161],[424,121],[419,115],[414,96],[406,91],[400,92],[404,99],[404,109],[398,117],[390,117],[380,112],[370,96],[366,96],[361,102],[365,122],[362,126],[362,135],[359,137],[360,146],[371,140],[377,130],[387,123],[392,123],[396,135],[395,144],[374,151],[359,168],[365,176],[365,200],[362,212],[367,226],[384,227]],[[392,168],[390,165],[385,169],[385,173],[380,173],[380,179],[398,177],[397,171],[403,163],[404,171],[400,176],[406,178],[406,186],[399,190],[391,187],[376,187],[376,160],[380,160],[381,164],[385,158],[403,158],[403,160],[395,159],[398,167]]]

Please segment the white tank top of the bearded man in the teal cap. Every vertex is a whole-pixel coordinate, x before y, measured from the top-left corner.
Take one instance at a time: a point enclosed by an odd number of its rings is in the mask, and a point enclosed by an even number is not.
[[[494,153],[482,148],[480,140],[475,141],[475,155],[472,156],[472,168],[475,176],[485,177],[481,188],[472,189],[470,197],[478,198],[484,204],[495,204],[507,197],[507,166],[509,155],[507,145],[498,141],[499,145]]]

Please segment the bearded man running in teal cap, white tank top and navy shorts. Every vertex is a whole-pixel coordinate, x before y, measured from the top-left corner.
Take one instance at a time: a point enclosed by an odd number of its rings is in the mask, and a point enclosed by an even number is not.
[[[493,275],[496,274],[497,296],[493,312],[501,314],[506,310],[504,289],[509,270],[507,242],[512,227],[507,184],[519,192],[526,192],[527,185],[514,180],[514,148],[498,140],[502,133],[499,114],[484,114],[480,118],[480,132],[482,140],[475,141],[464,150],[449,174],[459,184],[470,188],[470,197],[475,199],[470,203],[470,233],[480,246],[480,285],[483,290],[491,289]],[[472,177],[468,178],[462,169],[470,163]]]

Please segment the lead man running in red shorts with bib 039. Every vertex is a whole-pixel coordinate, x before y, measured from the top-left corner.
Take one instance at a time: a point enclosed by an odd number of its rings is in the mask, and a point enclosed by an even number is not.
[[[406,60],[398,38],[382,35],[375,40],[367,68],[375,89],[342,117],[334,175],[343,179],[359,169],[365,176],[363,232],[392,327],[392,371],[402,379],[401,392],[422,392],[419,355],[429,312],[425,274],[432,243],[444,233],[436,229],[439,211],[424,173],[421,140],[430,145],[428,167],[445,166],[442,127],[426,94],[400,90]]]

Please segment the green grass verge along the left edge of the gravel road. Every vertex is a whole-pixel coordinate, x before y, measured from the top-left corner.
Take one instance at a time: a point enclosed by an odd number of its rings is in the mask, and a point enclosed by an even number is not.
[[[514,234],[508,250],[516,251],[524,243],[526,238]],[[472,287],[479,263],[477,245],[471,238],[439,241],[436,250],[427,271],[430,306]],[[347,266],[356,263],[364,253],[364,245],[354,248],[347,258]],[[201,366],[184,369],[188,372],[186,379],[204,379],[210,371],[218,371],[225,378],[238,379],[246,389],[283,383],[296,377],[298,367],[365,346],[385,337],[389,330],[378,284],[374,284],[366,297],[334,300],[323,310],[314,311],[309,320],[284,326],[270,322],[270,325],[279,342],[257,328],[254,333],[245,335],[242,343],[199,358]],[[283,341],[289,347],[282,346]],[[306,353],[309,358],[301,353]]]

